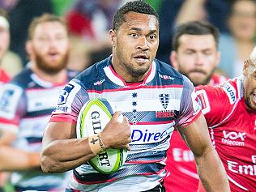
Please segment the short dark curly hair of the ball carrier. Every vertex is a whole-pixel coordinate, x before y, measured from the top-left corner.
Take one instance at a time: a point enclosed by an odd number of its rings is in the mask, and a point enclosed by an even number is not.
[[[118,30],[122,23],[126,22],[126,14],[129,12],[143,13],[147,15],[155,15],[159,19],[156,11],[147,2],[142,0],[126,2],[124,6],[119,8],[113,17],[113,30]]]

